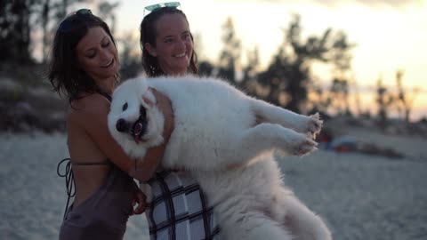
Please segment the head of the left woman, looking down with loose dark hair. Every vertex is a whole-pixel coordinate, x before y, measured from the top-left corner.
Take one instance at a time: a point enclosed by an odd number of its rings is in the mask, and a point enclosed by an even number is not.
[[[109,66],[109,63],[114,63]],[[110,93],[117,80],[117,48],[107,24],[90,10],[79,10],[60,23],[49,72],[54,90],[77,100],[84,92]],[[110,67],[108,71],[105,68]],[[99,86],[108,78],[109,86]]]

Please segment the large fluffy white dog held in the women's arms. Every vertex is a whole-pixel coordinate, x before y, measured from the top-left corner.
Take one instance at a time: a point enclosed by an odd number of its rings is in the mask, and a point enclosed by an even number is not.
[[[150,88],[173,105],[165,168],[196,178],[221,224],[221,239],[332,239],[325,223],[283,184],[272,150],[316,149],[318,115],[302,116],[246,96],[219,79],[133,79],[113,93],[109,131],[133,157],[162,143],[164,116]]]

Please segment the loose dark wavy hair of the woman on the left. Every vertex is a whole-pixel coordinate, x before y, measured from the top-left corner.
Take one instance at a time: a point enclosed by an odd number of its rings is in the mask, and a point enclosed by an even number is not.
[[[87,9],[68,15],[56,30],[48,78],[53,92],[64,94],[70,102],[77,100],[80,92],[101,92],[93,78],[80,68],[76,53],[77,44],[94,27],[103,28],[116,46],[107,23]]]

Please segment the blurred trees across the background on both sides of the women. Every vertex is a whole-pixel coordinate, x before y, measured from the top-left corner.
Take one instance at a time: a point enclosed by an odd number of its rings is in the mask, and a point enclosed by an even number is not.
[[[32,52],[35,39],[31,33],[42,34],[42,65],[48,60],[54,30],[68,12],[77,4],[91,3],[97,15],[106,20],[114,34],[115,11],[118,3],[94,0],[12,0],[0,2],[0,64],[36,64]],[[351,51],[356,46],[350,43],[344,31],[332,28],[319,36],[302,37],[301,17],[297,14],[283,29],[283,42],[271,57],[267,68],[261,69],[258,48],[247,51],[246,64],[242,64],[241,40],[238,38],[232,18],[222,25],[222,50],[218,60],[200,60],[200,74],[220,76],[239,89],[296,112],[329,112],[334,109],[340,115],[355,114],[350,109]],[[120,47],[121,76],[129,78],[141,72],[138,41],[133,37],[117,38]],[[40,41],[40,40],[39,40]],[[203,49],[202,49],[203,51]],[[320,86],[312,77],[313,63],[322,63],[332,68],[330,87]],[[412,100],[408,99],[402,83],[403,72],[397,76],[397,92],[388,92],[381,81],[377,84],[376,116],[385,123],[391,108],[399,108],[407,121]],[[361,114],[361,112],[356,113]]]

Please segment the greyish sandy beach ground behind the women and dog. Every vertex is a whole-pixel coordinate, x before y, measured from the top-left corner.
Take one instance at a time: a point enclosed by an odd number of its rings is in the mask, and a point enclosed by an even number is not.
[[[427,140],[348,129],[405,154],[391,159],[318,150],[280,157],[286,185],[326,221],[334,239],[427,239]],[[56,173],[68,157],[63,133],[0,133],[0,239],[57,239],[66,204]],[[149,239],[144,215],[125,239]]]

